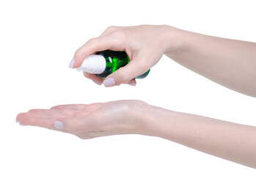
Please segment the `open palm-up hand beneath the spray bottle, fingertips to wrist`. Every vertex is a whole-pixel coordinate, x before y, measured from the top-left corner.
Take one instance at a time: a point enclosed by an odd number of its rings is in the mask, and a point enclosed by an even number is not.
[[[51,109],[32,109],[18,114],[23,125],[35,125],[52,130],[73,133],[81,139],[98,136],[135,133],[139,100],[118,100],[108,103],[70,104]],[[63,122],[63,129],[56,129],[54,122]]]

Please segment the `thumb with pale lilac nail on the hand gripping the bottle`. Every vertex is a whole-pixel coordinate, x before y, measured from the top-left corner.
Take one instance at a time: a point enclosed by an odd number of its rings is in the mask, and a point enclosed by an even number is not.
[[[120,67],[120,69],[107,76],[103,81],[103,84],[105,87],[112,87],[114,85],[128,83],[128,81],[136,78],[136,76],[142,75],[149,69],[150,66],[145,62],[145,59],[140,58],[138,60],[134,58],[128,63],[128,65]]]

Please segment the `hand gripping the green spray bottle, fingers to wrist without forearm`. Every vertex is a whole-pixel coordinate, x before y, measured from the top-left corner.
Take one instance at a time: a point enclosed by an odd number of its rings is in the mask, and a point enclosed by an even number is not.
[[[169,32],[169,29],[172,29],[173,33]],[[84,76],[97,84],[103,82],[106,87],[123,83],[136,84],[134,78],[150,70],[167,48],[169,50],[169,42],[173,38],[171,35],[177,31],[178,29],[170,26],[111,26],[100,37],[93,38],[78,48],[70,67],[80,66],[87,56],[98,51],[125,51],[131,62],[107,76],[104,81],[94,74],[84,72]]]

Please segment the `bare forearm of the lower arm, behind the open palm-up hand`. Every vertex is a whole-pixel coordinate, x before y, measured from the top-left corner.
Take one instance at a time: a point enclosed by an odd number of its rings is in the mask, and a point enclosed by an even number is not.
[[[158,136],[204,153],[256,168],[256,128],[151,107],[140,133]]]

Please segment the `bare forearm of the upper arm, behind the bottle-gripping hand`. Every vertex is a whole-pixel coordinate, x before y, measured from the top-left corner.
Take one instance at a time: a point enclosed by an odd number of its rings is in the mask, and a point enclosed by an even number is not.
[[[167,56],[224,87],[256,97],[256,43],[183,30],[176,34],[178,47],[174,51],[170,45]]]

